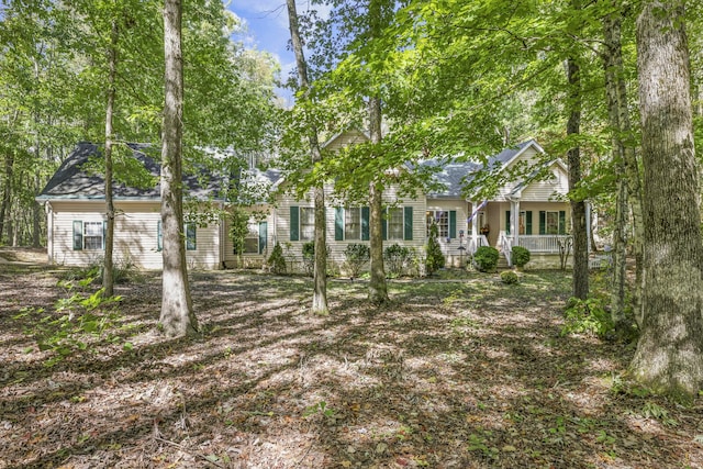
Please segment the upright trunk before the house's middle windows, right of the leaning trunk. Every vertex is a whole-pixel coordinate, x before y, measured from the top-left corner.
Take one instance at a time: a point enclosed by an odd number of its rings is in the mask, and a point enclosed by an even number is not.
[[[381,100],[369,99],[369,124],[373,152],[378,152],[381,143]],[[369,280],[369,301],[382,304],[389,301],[383,268],[383,185],[380,180],[371,181],[369,197],[369,241],[371,248],[371,278]]]

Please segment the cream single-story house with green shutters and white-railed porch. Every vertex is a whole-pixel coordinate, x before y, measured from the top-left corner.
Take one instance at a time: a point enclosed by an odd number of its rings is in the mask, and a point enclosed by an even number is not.
[[[330,150],[364,142],[362,132],[349,131],[335,135],[325,147]],[[145,145],[130,145],[135,159],[154,176],[159,165],[150,158]],[[490,158],[490,165],[509,170],[513,165],[536,166],[543,148],[527,141]],[[48,181],[36,200],[44,203],[47,214],[47,250],[52,263],[82,266],[99,261],[104,244],[103,179],[86,170],[99,147],[80,143]],[[539,163],[538,163],[539,161]],[[436,163],[426,161],[427,165]],[[498,247],[503,255],[513,245],[533,253],[532,266],[558,266],[558,243],[568,236],[570,226],[567,169],[560,160],[547,164],[549,177],[523,178],[506,183],[491,200],[471,200],[462,194],[467,178],[479,169],[475,163],[450,163],[437,168],[436,178],[444,190],[421,193],[412,199],[401,198],[397,188],[383,193],[388,204],[383,224],[384,245],[400,244],[414,248],[422,256],[428,236],[428,225],[436,223],[439,244],[448,265],[460,266],[478,246]],[[544,171],[542,171],[544,174]],[[282,172],[252,168],[246,178],[266,185],[271,191],[286,183]],[[221,209],[210,216],[186,214],[183,226],[186,255],[190,267],[220,269],[238,265],[261,266],[276,243],[293,268],[301,269],[302,246],[312,241],[314,232],[312,191],[301,200],[282,191],[276,192],[275,203],[256,208],[258,216],[249,223],[244,253],[235,254],[230,238],[230,221],[225,215],[228,202],[223,196],[225,179],[183,177],[185,194],[200,200],[210,209]],[[160,189],[156,183],[137,189],[124,183],[114,185],[114,206],[118,212],[114,233],[114,258],[141,268],[160,269]],[[332,187],[326,191],[332,192]],[[331,200],[331,199],[328,199]],[[192,204],[191,206],[198,206]],[[344,249],[350,243],[368,243],[368,206],[332,206],[326,211],[330,259],[344,267]]]

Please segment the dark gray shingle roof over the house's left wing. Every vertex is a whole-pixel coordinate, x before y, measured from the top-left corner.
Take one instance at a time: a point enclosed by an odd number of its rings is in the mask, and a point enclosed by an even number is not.
[[[127,145],[132,149],[132,157],[138,160],[149,174],[155,177],[160,175],[160,165],[145,153],[145,150],[149,148],[148,144]],[[46,187],[42,190],[37,200],[104,199],[104,178],[101,175],[93,175],[86,170],[86,164],[96,157],[101,157],[100,148],[97,144],[81,142],[76,145],[74,152],[46,183]],[[205,179],[209,180],[209,183],[207,187],[203,187],[196,176],[185,175],[185,196],[198,199],[217,196],[222,180],[216,177],[207,177]],[[159,200],[160,182],[146,189],[115,182],[113,197],[115,200]]]

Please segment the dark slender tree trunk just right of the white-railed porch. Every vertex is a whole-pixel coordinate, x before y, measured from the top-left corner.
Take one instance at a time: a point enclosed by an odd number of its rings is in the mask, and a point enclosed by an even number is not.
[[[569,83],[569,119],[567,137],[581,132],[581,71],[576,59],[567,59]],[[585,202],[573,198],[572,191],[581,181],[581,149],[574,146],[567,154],[569,164],[569,192],[573,237],[573,295],[585,300],[589,295],[589,236],[585,223]]]

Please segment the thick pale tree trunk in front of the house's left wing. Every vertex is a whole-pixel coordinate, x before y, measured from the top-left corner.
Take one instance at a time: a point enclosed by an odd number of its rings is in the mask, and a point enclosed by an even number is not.
[[[198,332],[188,283],[183,244],[182,111],[183,57],[180,0],[164,1],[166,57],[164,129],[161,146],[161,237],[164,276],[159,324],[167,336]]]

